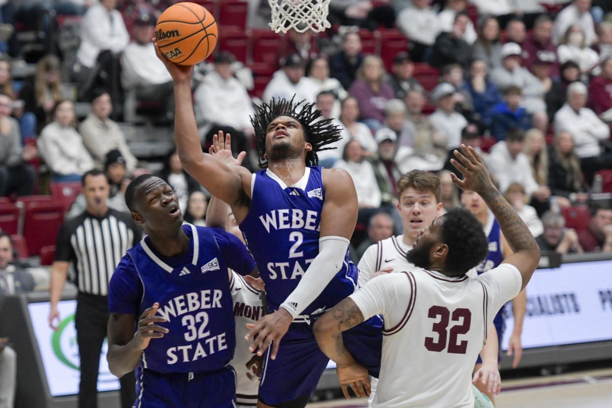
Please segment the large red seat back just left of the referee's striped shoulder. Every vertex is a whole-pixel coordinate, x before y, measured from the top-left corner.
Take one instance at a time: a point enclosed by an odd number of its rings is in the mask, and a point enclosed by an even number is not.
[[[64,222],[64,207],[57,201],[29,202],[24,207],[23,236],[28,252],[40,253],[40,248],[54,245]]]

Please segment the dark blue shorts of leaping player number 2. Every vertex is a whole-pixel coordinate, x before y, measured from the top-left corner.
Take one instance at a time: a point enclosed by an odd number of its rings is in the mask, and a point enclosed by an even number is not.
[[[320,315],[319,315],[320,316]],[[275,360],[270,358],[272,347],[264,354],[264,366],[259,382],[259,399],[267,405],[293,401],[298,397],[312,397],[329,358],[316,344],[310,322],[293,322],[278,346]],[[342,338],[346,349],[355,360],[378,377],[383,347],[383,320],[373,316],[346,330]]]

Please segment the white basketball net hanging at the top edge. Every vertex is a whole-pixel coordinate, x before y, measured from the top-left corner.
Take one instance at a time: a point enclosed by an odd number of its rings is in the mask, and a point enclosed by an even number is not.
[[[324,31],[330,28],[327,21],[330,0],[268,0],[272,9],[274,32],[287,32],[294,29],[298,32],[312,30]]]

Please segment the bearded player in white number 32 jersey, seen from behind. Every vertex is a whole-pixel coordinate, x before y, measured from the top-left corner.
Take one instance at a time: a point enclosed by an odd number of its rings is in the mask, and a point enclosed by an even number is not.
[[[383,360],[374,407],[492,406],[469,384],[474,360],[494,314],[529,283],[540,250],[491,182],[476,150],[465,145],[461,150],[463,154],[455,150],[458,160],[452,163],[465,179],[452,174],[453,182],[482,196],[515,252],[489,273],[469,278],[466,273],[487,256],[488,239],[472,213],[452,209],[408,253],[414,268],[377,276],[318,319],[315,336],[321,350],[347,367],[341,384],[364,395],[367,370],[345,348],[342,333],[364,318],[383,314]],[[346,386],[343,391],[348,397]]]

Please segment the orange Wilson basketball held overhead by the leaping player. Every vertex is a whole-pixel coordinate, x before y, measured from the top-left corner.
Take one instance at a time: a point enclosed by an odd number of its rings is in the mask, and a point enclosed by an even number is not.
[[[155,26],[162,54],[179,65],[204,61],[217,45],[217,22],[212,13],[191,2],[173,4],[164,10]]]

